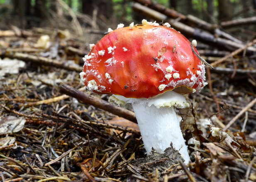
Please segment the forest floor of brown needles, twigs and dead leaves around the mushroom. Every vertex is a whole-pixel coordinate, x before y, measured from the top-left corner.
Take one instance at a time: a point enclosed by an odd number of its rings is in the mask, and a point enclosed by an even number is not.
[[[218,64],[224,71],[207,68],[209,84],[187,97],[193,108],[179,114],[187,120],[185,115],[193,113],[189,132],[200,144],[189,145],[191,163],[186,167],[180,158],[170,160],[178,156],[173,150],[146,156],[139,129],[126,116],[63,91],[90,95],[80,84],[82,57],[89,43],[102,36],[87,31],[80,38],[45,27],[0,31],[2,182],[256,181],[255,57],[229,57]],[[204,46],[198,46],[201,55],[223,53]],[[229,53],[204,58],[211,63]],[[108,98],[93,96],[98,104]]]

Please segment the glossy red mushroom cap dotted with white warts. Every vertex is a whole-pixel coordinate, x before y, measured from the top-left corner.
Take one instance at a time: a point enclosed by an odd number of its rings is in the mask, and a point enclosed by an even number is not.
[[[119,28],[91,47],[80,76],[93,92],[151,98],[169,90],[191,93],[205,86],[205,66],[190,41],[173,28]]]

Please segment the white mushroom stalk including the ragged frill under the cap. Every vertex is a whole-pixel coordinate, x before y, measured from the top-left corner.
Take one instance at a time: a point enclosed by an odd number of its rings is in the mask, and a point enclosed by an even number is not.
[[[185,163],[190,161],[188,147],[180,130],[180,121],[175,107],[185,108],[189,104],[185,98],[173,91],[165,92],[151,99],[133,99],[119,95],[110,96],[110,101],[119,105],[132,104],[141,132],[144,148],[149,154],[152,147],[159,153],[173,144],[183,156]]]

